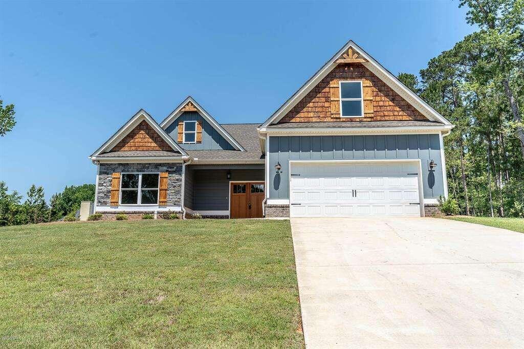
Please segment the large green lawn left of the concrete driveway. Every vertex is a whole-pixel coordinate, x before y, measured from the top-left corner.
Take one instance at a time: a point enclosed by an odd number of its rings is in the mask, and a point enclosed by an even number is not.
[[[0,347],[303,347],[289,221],[0,228]]]

